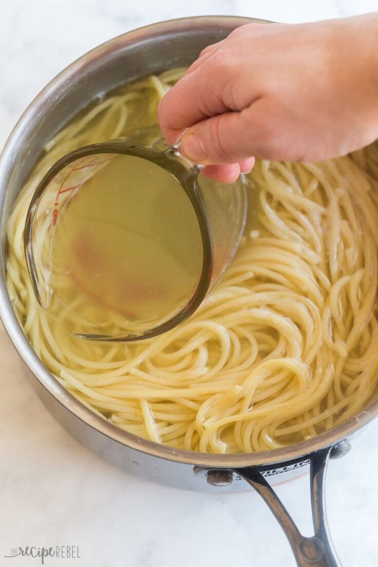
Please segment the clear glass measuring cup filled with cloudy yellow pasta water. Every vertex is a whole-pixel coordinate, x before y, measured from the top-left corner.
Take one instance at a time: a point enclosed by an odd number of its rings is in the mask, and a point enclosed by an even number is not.
[[[73,335],[132,341],[196,311],[243,234],[244,179],[202,178],[160,130],[71,151],[29,205],[24,247],[41,307]]]

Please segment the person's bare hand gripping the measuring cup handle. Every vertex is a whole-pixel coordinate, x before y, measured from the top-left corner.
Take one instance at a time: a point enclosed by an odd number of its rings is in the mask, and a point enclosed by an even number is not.
[[[189,128],[182,151],[228,183],[251,156],[315,161],[359,149],[378,137],[377,37],[377,14],[236,28],[160,101],[164,137]]]

